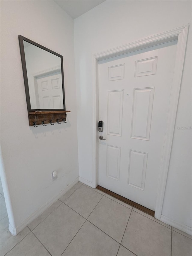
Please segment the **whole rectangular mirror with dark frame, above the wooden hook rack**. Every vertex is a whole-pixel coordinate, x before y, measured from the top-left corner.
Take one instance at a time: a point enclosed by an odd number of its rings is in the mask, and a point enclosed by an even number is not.
[[[65,110],[63,57],[19,35],[28,112]]]

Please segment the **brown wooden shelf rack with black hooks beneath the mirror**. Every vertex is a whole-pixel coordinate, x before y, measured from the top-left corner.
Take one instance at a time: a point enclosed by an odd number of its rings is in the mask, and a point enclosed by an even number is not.
[[[29,125],[38,127],[38,124],[42,124],[46,126],[46,123],[66,123],[67,117],[67,110],[63,111],[35,111],[35,112],[28,112],[29,115]]]

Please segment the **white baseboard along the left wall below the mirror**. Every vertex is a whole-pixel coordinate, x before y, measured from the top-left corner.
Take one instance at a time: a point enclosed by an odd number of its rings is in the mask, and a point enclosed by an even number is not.
[[[41,215],[49,206],[51,206],[55,201],[57,201],[62,195],[64,195],[69,189],[71,189],[77,182],[79,181],[79,177],[76,178],[73,183],[68,185],[65,189],[63,189],[57,196],[53,197],[49,202],[42,205],[37,211],[35,211],[32,215],[30,215],[26,220],[24,220],[19,226],[13,228],[9,224],[9,231],[13,236],[16,236],[21,230],[23,230],[27,225],[29,225],[33,220],[35,220],[39,215]]]

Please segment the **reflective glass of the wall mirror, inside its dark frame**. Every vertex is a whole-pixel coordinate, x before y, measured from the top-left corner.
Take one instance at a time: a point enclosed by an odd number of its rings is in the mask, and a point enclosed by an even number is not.
[[[23,41],[31,109],[62,109],[61,58]]]

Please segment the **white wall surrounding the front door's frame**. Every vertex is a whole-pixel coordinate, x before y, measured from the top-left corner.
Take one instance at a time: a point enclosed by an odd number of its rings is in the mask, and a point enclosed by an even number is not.
[[[74,20],[80,177],[92,182],[92,55],[187,23],[191,26],[190,1],[105,1]],[[191,28],[178,126],[191,126]],[[191,227],[191,209],[191,130],[176,128],[162,214],[178,225]]]

